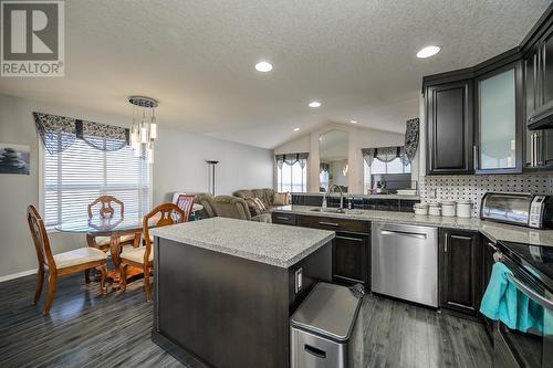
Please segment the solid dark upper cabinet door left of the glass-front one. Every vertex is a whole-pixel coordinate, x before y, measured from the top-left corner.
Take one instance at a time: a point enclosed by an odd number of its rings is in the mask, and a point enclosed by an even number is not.
[[[428,174],[469,174],[472,165],[472,81],[426,91]]]

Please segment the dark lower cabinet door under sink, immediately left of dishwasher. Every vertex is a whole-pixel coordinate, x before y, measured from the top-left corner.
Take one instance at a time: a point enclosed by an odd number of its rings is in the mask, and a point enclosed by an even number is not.
[[[368,270],[369,241],[367,235],[337,232],[332,251],[333,280],[338,283],[362,283],[371,287]]]

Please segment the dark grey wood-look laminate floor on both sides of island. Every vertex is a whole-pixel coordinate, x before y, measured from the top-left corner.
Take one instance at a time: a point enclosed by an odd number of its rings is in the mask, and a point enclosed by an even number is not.
[[[182,367],[150,340],[143,282],[100,295],[84,275],[62,277],[45,317],[31,305],[35,277],[0,283],[0,367]],[[483,326],[367,295],[356,330],[356,367],[491,367]]]

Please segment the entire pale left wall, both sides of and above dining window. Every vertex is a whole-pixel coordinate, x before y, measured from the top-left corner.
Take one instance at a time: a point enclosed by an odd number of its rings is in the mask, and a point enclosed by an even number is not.
[[[105,115],[75,106],[44,104],[0,94],[0,143],[31,147],[30,175],[0,175],[0,278],[36,269],[36,254],[27,225],[29,204],[39,210],[39,136],[32,112],[43,112],[111,125],[127,126],[129,116]],[[163,126],[153,167],[153,201],[166,200],[177,190],[206,191],[206,159],[219,159],[218,192],[238,188],[272,187],[271,150],[206,138]],[[85,209],[84,209],[85,211]],[[85,246],[84,235],[50,234],[54,253]]]

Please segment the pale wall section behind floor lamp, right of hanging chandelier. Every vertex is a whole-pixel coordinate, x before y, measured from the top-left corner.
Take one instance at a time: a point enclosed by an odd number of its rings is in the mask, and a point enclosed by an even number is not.
[[[175,191],[208,191],[206,160],[219,161],[217,194],[273,187],[272,150],[163,127],[154,147],[154,203],[167,201]]]

